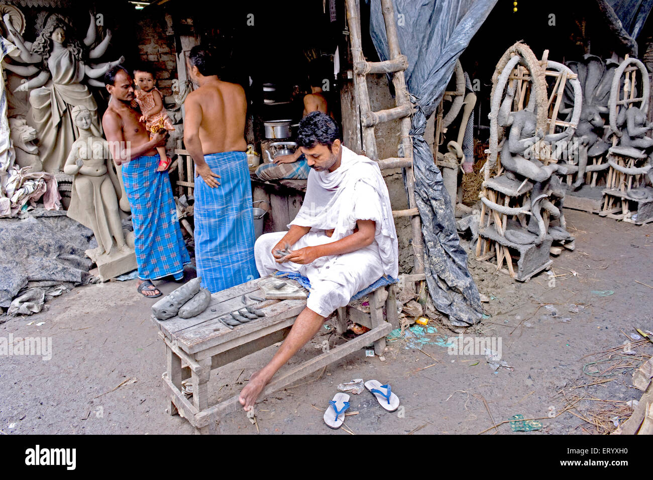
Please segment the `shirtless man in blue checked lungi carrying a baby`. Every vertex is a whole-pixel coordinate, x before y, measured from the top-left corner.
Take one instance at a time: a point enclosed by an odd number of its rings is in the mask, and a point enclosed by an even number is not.
[[[132,106],[134,82],[123,67],[117,66],[104,76],[112,95],[102,119],[104,135],[114,161],[123,165],[123,182],[131,206],[134,244],[138,264],[138,292],[154,298],[161,291],[153,279],[173,276],[182,280],[183,266],[190,262],[179,227],[167,170],[157,172],[156,148],[165,146],[165,131],[150,140],[142,115]]]

